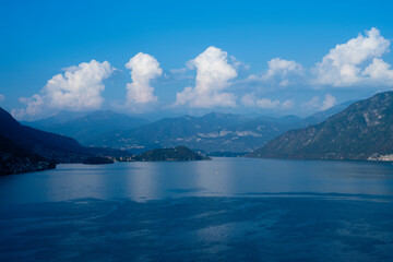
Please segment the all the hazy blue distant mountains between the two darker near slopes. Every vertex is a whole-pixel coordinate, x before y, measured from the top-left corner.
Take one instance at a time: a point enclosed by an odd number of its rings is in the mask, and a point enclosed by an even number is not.
[[[152,148],[184,145],[204,153],[247,153],[290,129],[323,121],[348,103],[300,119],[296,116],[248,118],[212,112],[202,117],[183,116],[148,122],[112,111],[81,116],[58,116],[25,122],[45,131],[70,135],[85,146],[112,147],[139,154]]]

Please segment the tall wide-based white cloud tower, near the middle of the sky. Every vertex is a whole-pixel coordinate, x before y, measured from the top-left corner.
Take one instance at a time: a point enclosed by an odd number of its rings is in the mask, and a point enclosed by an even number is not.
[[[235,59],[230,58],[230,60]],[[224,92],[229,81],[237,76],[237,64],[228,62],[226,51],[211,46],[187,66],[196,69],[195,87],[189,86],[177,93],[175,106],[189,105],[200,108],[236,106],[236,96]]]

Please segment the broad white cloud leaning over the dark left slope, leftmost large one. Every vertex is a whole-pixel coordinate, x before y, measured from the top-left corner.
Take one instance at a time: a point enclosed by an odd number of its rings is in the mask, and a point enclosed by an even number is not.
[[[21,97],[20,100],[26,104],[26,108],[13,109],[12,114],[23,118],[26,115],[40,115],[45,110],[98,109],[104,102],[103,80],[109,78],[115,70],[110,63],[92,60],[64,70],[63,74],[52,76],[39,94],[28,98]]]

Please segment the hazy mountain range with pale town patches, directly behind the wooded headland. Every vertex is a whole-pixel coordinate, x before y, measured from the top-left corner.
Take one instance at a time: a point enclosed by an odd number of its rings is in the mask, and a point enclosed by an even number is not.
[[[345,105],[334,107],[324,115],[313,115],[306,119],[296,116],[247,118],[219,112],[211,112],[202,117],[165,118],[134,129],[105,133],[92,140],[88,145],[121,148],[134,154],[180,145],[205,154],[247,153],[290,129],[322,121],[343,107]]]

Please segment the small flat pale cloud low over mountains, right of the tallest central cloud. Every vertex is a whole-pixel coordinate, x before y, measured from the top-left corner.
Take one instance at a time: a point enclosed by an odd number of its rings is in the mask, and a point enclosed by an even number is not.
[[[259,107],[262,109],[288,109],[294,106],[294,100],[291,99],[279,102],[278,99],[257,98],[253,93],[243,95],[241,103],[247,107]]]

